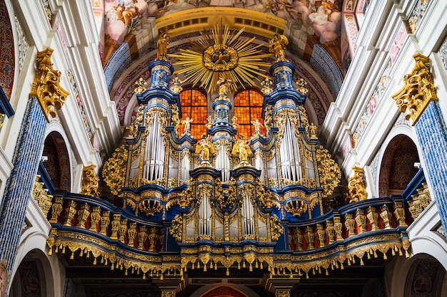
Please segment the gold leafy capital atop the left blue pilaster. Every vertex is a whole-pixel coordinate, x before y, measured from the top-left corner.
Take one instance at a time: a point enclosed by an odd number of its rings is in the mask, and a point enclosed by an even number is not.
[[[46,120],[56,117],[56,110],[64,105],[69,92],[61,87],[61,71],[56,71],[51,63],[52,48],[39,51],[36,57],[36,73],[31,87],[31,97],[36,97],[46,115]]]

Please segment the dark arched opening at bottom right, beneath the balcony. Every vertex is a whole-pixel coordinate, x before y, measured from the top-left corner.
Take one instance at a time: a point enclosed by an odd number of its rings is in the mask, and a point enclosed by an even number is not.
[[[404,296],[445,296],[446,269],[433,256],[418,254],[416,257],[406,277]]]

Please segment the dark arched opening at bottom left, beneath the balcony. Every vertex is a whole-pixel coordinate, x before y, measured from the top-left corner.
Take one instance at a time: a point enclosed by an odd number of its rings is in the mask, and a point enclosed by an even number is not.
[[[12,279],[9,296],[54,296],[51,266],[45,254],[33,249],[21,260]]]

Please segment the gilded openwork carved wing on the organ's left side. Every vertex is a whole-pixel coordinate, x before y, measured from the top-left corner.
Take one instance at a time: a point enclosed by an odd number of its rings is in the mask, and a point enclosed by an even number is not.
[[[102,169],[102,177],[110,187],[110,192],[119,197],[123,194],[121,187],[124,187],[128,154],[129,146],[121,145],[115,150],[112,157],[104,163]]]

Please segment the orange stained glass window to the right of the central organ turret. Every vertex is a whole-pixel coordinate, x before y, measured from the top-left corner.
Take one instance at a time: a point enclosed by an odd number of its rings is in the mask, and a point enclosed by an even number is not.
[[[254,126],[251,121],[256,119],[263,124],[261,118],[263,95],[256,90],[242,90],[234,96],[234,116],[238,118],[238,135],[246,138],[251,137],[254,133]],[[261,127],[263,135],[266,128]]]

